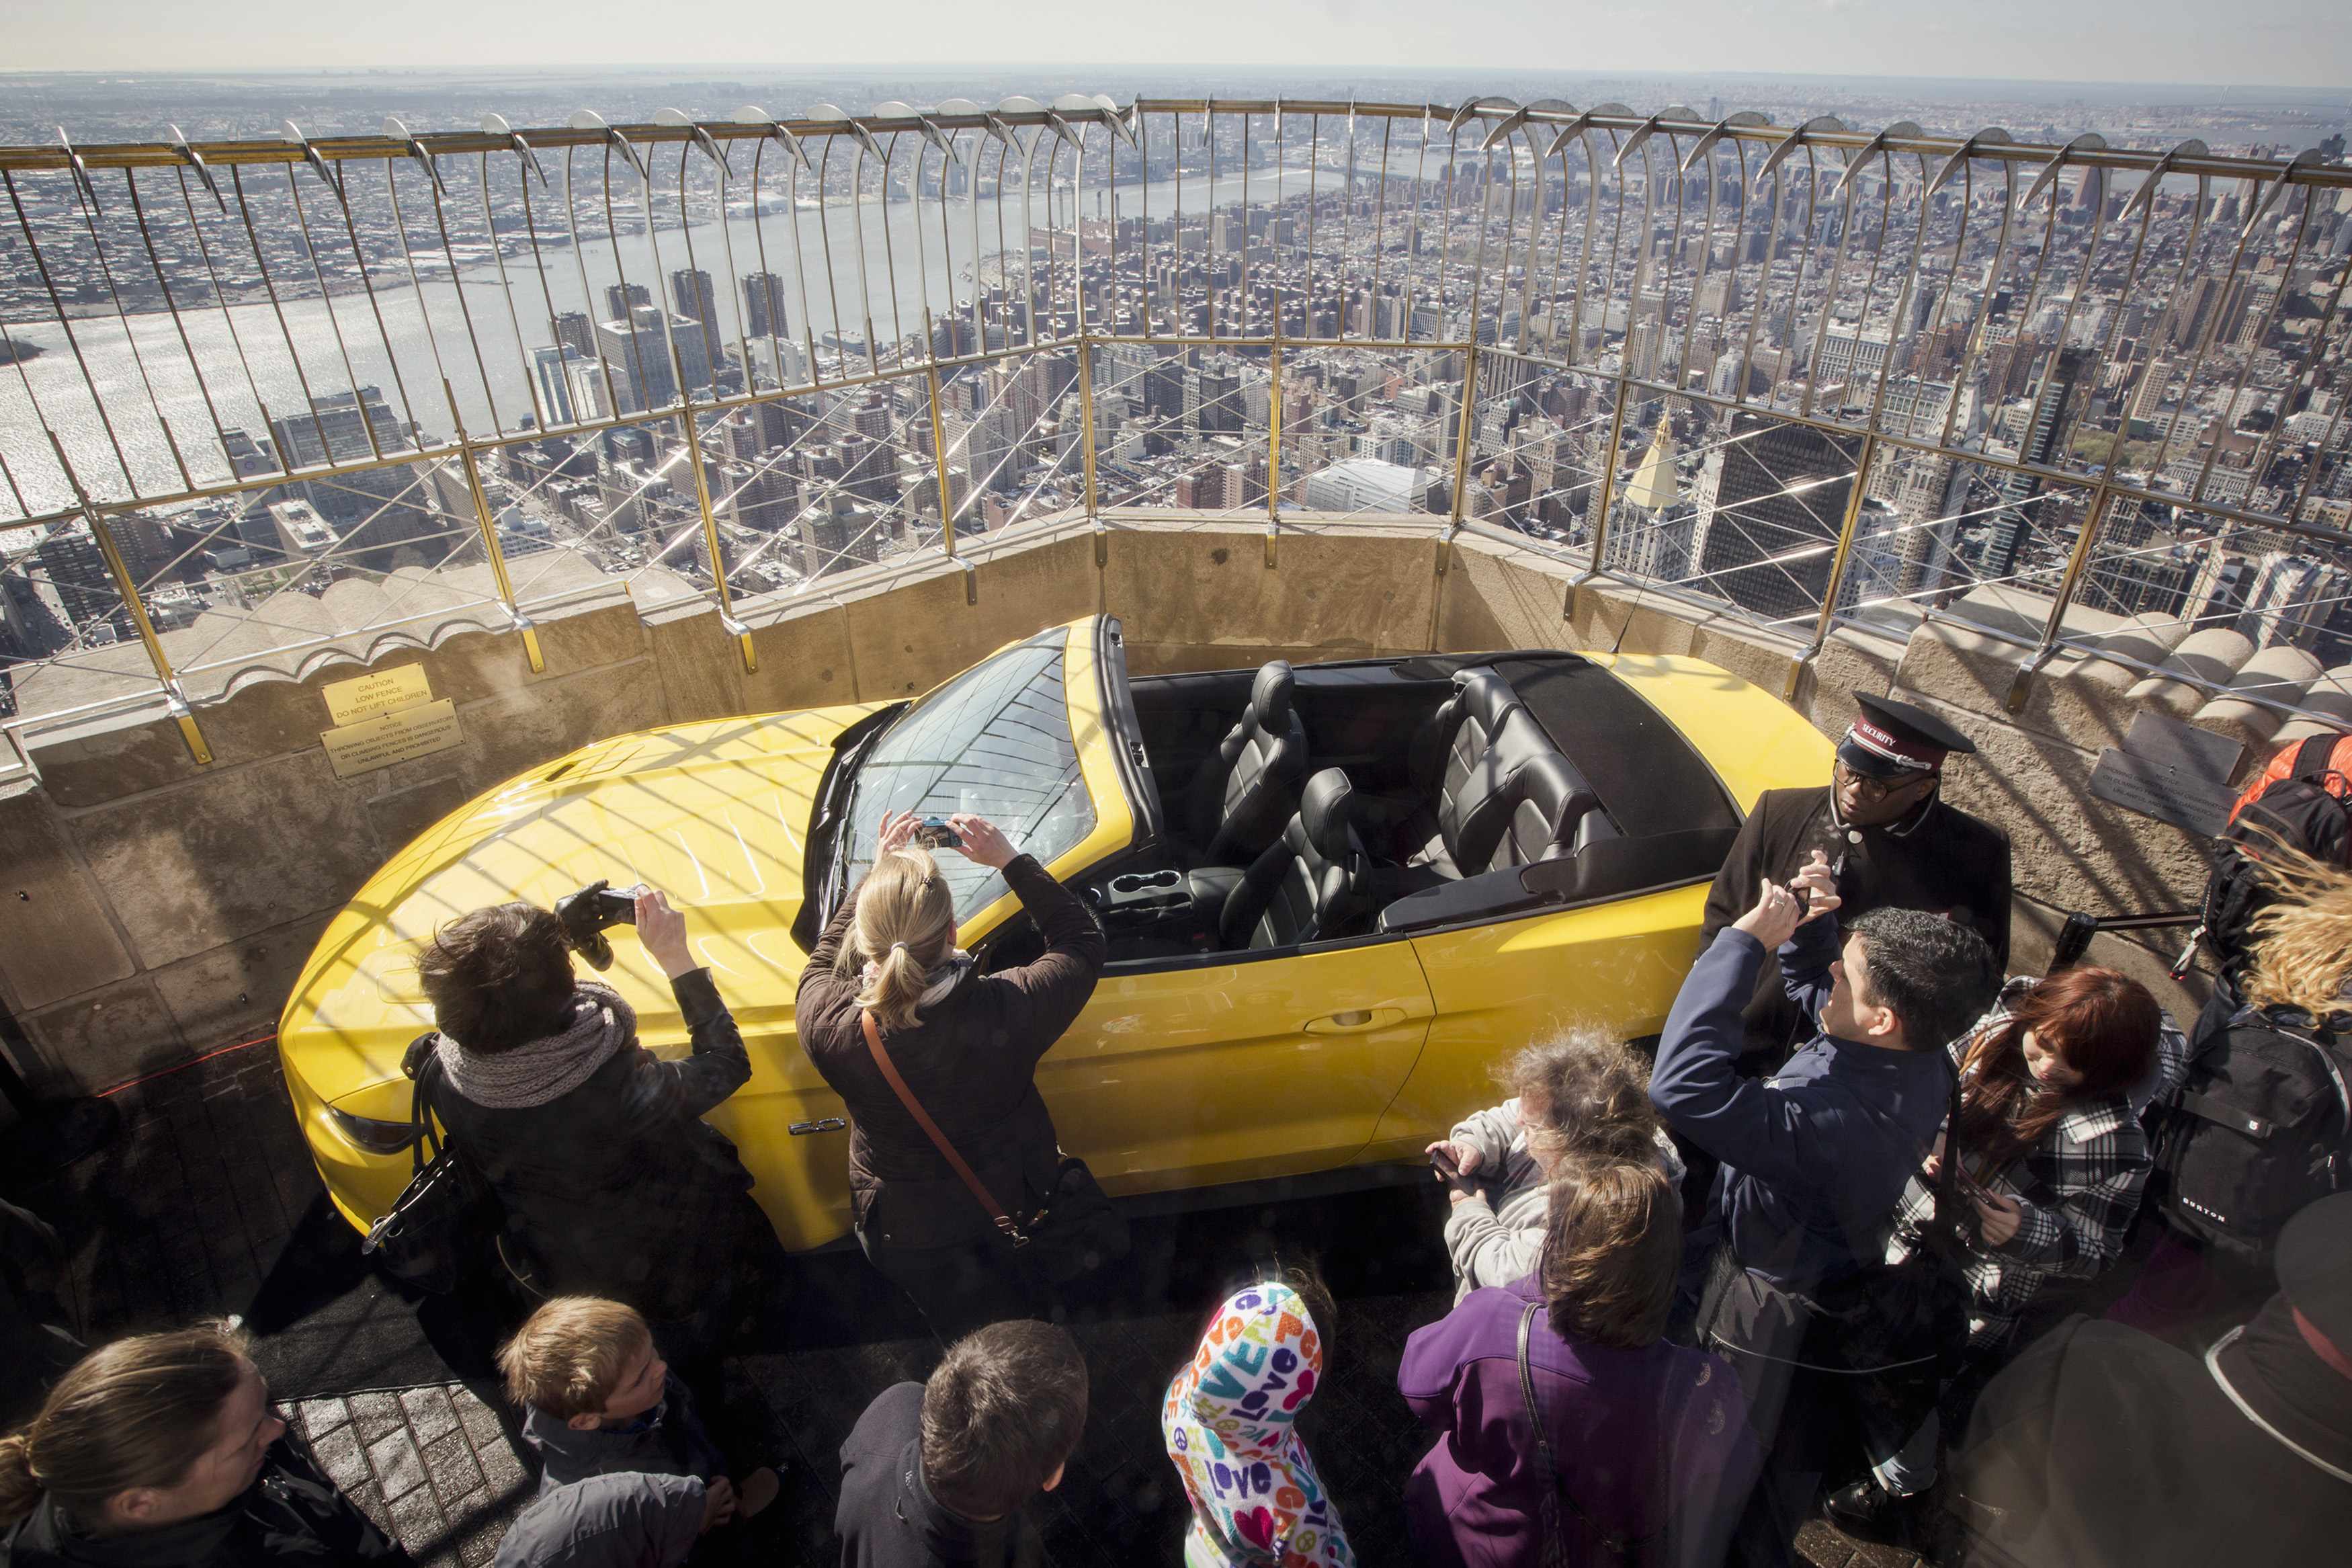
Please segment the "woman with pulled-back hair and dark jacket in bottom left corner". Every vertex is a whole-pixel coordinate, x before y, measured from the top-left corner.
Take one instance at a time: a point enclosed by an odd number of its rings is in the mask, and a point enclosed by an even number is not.
[[[0,1439],[0,1568],[407,1568],[226,1324],[85,1356]]]

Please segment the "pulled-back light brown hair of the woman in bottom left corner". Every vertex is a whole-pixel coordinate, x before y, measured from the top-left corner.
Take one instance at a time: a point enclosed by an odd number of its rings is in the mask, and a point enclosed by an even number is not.
[[[42,1497],[92,1526],[127,1490],[179,1486],[219,1441],[221,1406],[252,1368],[223,1321],[141,1333],[82,1356],[33,1422],[0,1439],[0,1526]]]

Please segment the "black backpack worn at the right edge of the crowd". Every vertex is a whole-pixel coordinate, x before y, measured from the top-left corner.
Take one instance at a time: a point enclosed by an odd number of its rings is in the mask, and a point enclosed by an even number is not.
[[[2352,1185],[2352,1053],[2298,1009],[2239,1009],[2201,1041],[2154,1119],[2173,1229],[2267,1267],[2279,1227]]]

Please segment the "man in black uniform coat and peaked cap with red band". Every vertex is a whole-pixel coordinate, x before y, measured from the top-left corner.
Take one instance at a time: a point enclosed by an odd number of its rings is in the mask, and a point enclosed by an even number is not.
[[[1837,743],[1830,783],[1766,790],[1740,825],[1708,889],[1698,950],[1755,907],[1766,882],[1788,886],[1818,849],[1837,872],[1837,910],[1851,929],[1870,910],[1950,914],[1992,945],[2009,969],[2009,835],[1943,802],[1943,762],[1976,743],[1926,708],[1884,696],[1853,698],[1860,712]],[[1809,1037],[1780,976],[1766,964],[1740,1013],[1748,1051],[1788,1053]]]

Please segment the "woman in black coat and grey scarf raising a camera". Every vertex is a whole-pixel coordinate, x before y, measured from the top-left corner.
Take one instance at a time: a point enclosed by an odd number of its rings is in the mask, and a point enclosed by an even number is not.
[[[524,1286],[623,1300],[689,1368],[724,1338],[739,1253],[774,1232],[734,1143],[703,1121],[750,1077],[743,1037],[663,893],[637,896],[635,929],[691,1056],[644,1051],[628,1001],[574,978],[555,914],[503,903],[449,922],[419,957],[440,1034],[409,1070],[433,1053],[433,1107],[496,1192]]]

